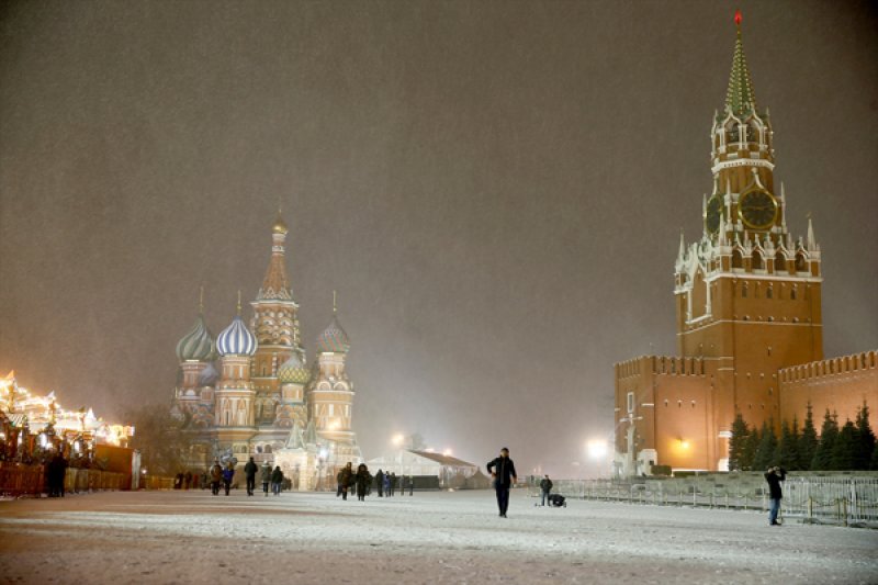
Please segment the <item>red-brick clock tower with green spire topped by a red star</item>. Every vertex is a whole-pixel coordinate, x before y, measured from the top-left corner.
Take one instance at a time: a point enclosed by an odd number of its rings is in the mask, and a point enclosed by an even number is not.
[[[649,474],[653,464],[727,469],[735,415],[776,429],[784,418],[801,420],[804,402],[785,394],[798,378],[785,372],[823,359],[820,246],[810,217],[804,237],[787,228],[774,130],[756,103],[740,13],[735,24],[725,103],[710,132],[702,233],[688,244],[680,236],[674,265],[678,356],[615,367],[616,465],[623,474]],[[857,394],[859,404],[867,394],[878,398],[878,387]],[[851,408],[854,401],[842,403]],[[828,405],[815,401],[814,412]]]

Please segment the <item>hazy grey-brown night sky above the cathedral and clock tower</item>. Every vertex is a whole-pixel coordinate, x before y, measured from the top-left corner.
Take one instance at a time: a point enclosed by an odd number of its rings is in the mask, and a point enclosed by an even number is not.
[[[825,353],[874,349],[868,2],[33,1],[0,8],[0,373],[167,406],[199,286],[215,335],[280,200],[309,359],[338,291],[367,458],[418,431],[579,473],[612,363],[675,351],[739,7]]]

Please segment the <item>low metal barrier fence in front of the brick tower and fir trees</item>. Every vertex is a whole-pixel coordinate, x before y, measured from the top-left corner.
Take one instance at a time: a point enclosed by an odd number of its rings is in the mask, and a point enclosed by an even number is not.
[[[721,477],[722,479],[722,477]],[[698,480],[553,480],[552,492],[573,499],[634,505],[689,506],[768,510],[768,490],[762,482]],[[539,479],[528,482],[539,496]],[[878,527],[878,477],[788,477],[781,515],[803,522]]]

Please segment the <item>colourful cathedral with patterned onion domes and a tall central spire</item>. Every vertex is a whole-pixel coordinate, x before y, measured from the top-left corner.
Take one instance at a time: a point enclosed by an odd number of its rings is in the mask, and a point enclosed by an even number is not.
[[[288,228],[280,212],[272,226],[271,259],[250,302],[249,327],[237,314],[214,338],[203,302],[192,329],[177,344],[180,378],[172,415],[193,443],[190,464],[268,461],[293,487],[312,490],[320,475],[362,460],[351,429],[353,385],[346,371],[350,342],[335,299],[333,318],[317,337],[308,365],[299,327],[299,304],[284,267]]]

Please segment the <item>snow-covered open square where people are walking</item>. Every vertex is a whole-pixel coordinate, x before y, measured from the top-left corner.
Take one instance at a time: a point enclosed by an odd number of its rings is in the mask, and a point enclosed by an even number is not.
[[[878,583],[878,531],[514,491],[0,502],[2,583]]]

